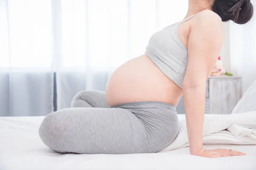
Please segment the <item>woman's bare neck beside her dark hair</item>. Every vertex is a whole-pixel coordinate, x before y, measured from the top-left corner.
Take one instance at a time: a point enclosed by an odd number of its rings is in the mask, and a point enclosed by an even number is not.
[[[213,0],[189,0],[189,8],[186,17],[190,17],[206,9],[212,10],[212,3]]]

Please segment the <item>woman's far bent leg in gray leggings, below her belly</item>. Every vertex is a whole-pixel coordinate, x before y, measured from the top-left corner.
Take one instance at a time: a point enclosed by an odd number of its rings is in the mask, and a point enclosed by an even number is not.
[[[110,108],[103,91],[81,91],[74,96],[71,108]]]

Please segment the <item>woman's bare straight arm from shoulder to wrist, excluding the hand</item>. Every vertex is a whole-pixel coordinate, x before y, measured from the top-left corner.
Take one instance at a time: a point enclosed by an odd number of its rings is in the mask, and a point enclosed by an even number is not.
[[[221,20],[212,12],[196,16],[188,40],[188,65],[183,81],[184,106],[190,153],[203,149],[206,80],[217,61],[224,40]]]

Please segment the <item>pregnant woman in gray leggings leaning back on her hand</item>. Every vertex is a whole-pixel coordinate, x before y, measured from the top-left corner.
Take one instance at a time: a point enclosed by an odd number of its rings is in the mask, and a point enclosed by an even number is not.
[[[177,136],[175,107],[184,96],[192,155],[244,155],[205,150],[202,134],[206,80],[224,40],[222,21],[244,24],[252,16],[250,0],[189,0],[184,20],[153,34],[145,54],[114,71],[106,93],[83,91],[72,108],[47,115],[42,141],[61,153],[155,153]]]

